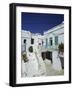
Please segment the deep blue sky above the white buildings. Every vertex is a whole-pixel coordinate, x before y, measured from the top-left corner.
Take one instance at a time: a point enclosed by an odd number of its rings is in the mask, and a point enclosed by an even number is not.
[[[47,31],[64,21],[63,14],[24,13],[21,14],[21,28],[32,33]]]

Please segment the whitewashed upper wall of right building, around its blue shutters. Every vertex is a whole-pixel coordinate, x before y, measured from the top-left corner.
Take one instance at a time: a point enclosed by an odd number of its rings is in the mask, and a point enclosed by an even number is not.
[[[43,45],[43,47],[45,47],[45,45],[46,45],[46,38],[48,39],[48,45],[49,45],[50,37],[52,37],[53,46],[55,46],[55,36],[58,36],[58,44],[64,43],[64,22],[61,23],[60,25],[44,32],[44,36],[43,36],[44,45]]]

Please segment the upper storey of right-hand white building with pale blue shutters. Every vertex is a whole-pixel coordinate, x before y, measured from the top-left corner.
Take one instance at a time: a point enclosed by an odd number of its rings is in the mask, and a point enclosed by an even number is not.
[[[43,35],[44,48],[49,48],[49,50],[58,49],[60,43],[64,43],[64,23],[44,32]]]

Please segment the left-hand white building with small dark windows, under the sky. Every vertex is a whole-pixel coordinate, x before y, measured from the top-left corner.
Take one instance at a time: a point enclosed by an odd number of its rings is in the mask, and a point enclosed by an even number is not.
[[[39,33],[33,34],[29,31],[22,30],[21,38],[22,52],[28,52],[30,46],[34,47],[34,51],[42,47],[42,35]]]

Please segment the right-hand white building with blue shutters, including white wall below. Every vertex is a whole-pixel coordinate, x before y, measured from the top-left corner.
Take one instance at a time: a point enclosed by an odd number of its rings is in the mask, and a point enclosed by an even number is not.
[[[58,56],[58,46],[61,43],[64,44],[64,22],[44,32],[43,35],[42,51],[48,51],[49,55],[47,58],[51,59],[53,67],[56,70],[61,70],[62,66],[64,67],[64,61],[62,63]]]

